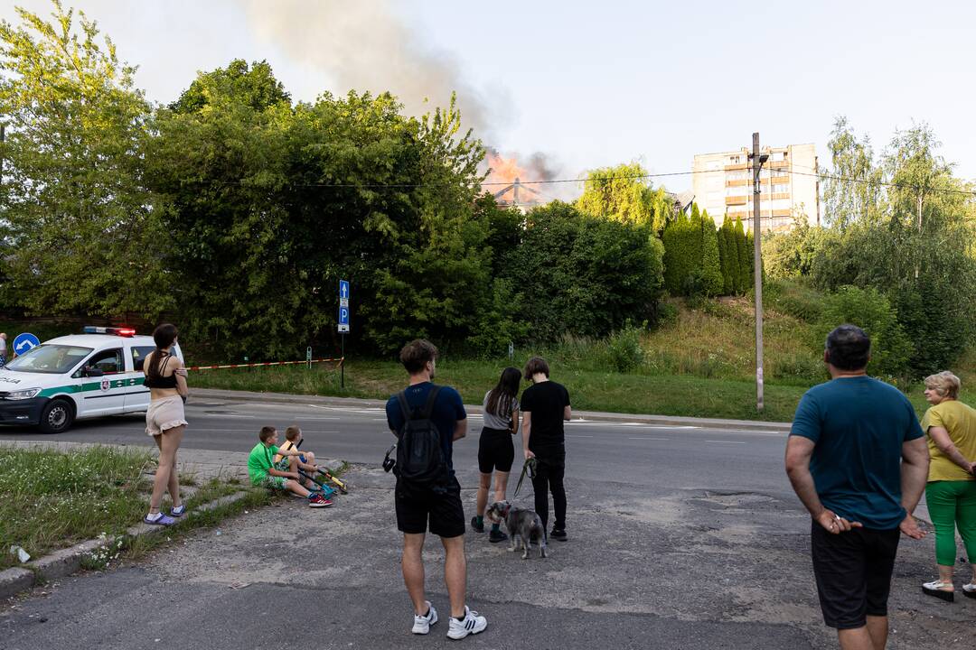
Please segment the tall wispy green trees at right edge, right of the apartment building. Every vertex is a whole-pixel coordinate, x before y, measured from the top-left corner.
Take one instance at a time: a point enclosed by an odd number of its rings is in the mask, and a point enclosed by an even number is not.
[[[831,146],[837,168],[871,182],[829,188],[827,222],[834,227],[811,229],[820,239],[800,248],[814,251],[807,255],[810,278],[827,289],[882,292],[914,344],[913,376],[951,366],[974,333],[972,185],[953,176],[924,125],[896,134],[879,162],[842,119]]]

